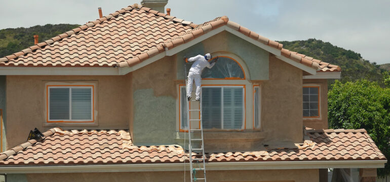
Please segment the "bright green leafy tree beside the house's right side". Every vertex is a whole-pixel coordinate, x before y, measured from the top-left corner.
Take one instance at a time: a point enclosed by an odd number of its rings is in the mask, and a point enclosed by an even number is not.
[[[390,88],[366,79],[341,83],[336,80],[328,93],[330,128],[364,128],[380,151],[390,159]],[[390,174],[390,165],[378,176]]]

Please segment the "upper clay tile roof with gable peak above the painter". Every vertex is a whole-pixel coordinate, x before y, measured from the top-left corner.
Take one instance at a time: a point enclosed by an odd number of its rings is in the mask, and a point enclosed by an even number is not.
[[[318,71],[340,67],[288,54],[283,45],[258,35],[226,16],[197,25],[137,4],[0,58],[3,67],[128,67],[196,39],[220,26],[228,26]],[[300,56],[297,57],[296,55]]]

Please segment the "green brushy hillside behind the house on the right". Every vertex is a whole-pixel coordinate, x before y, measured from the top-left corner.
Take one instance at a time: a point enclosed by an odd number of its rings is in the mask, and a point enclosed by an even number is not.
[[[384,70],[375,62],[365,60],[359,53],[345,50],[329,42],[310,38],[307,40],[279,41],[283,48],[341,67],[341,82],[367,78],[382,82]]]

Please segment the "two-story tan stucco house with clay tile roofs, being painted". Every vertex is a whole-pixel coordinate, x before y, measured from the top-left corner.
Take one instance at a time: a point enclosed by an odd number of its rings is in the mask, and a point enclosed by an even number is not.
[[[166,0],[141,4],[0,58],[8,181],[190,181],[183,57],[207,52],[220,57],[202,75],[208,181],[375,180],[386,158],[366,130],[327,129],[339,66],[226,16],[194,24]],[[43,140],[26,141],[35,127]]]

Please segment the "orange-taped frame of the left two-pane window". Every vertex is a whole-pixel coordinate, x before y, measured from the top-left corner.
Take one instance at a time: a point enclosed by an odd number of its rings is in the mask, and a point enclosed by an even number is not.
[[[50,118],[50,88],[69,88],[69,119]],[[91,119],[71,119],[71,88],[91,88]],[[46,85],[46,122],[47,123],[91,123],[95,122],[95,86],[91,85]]]

